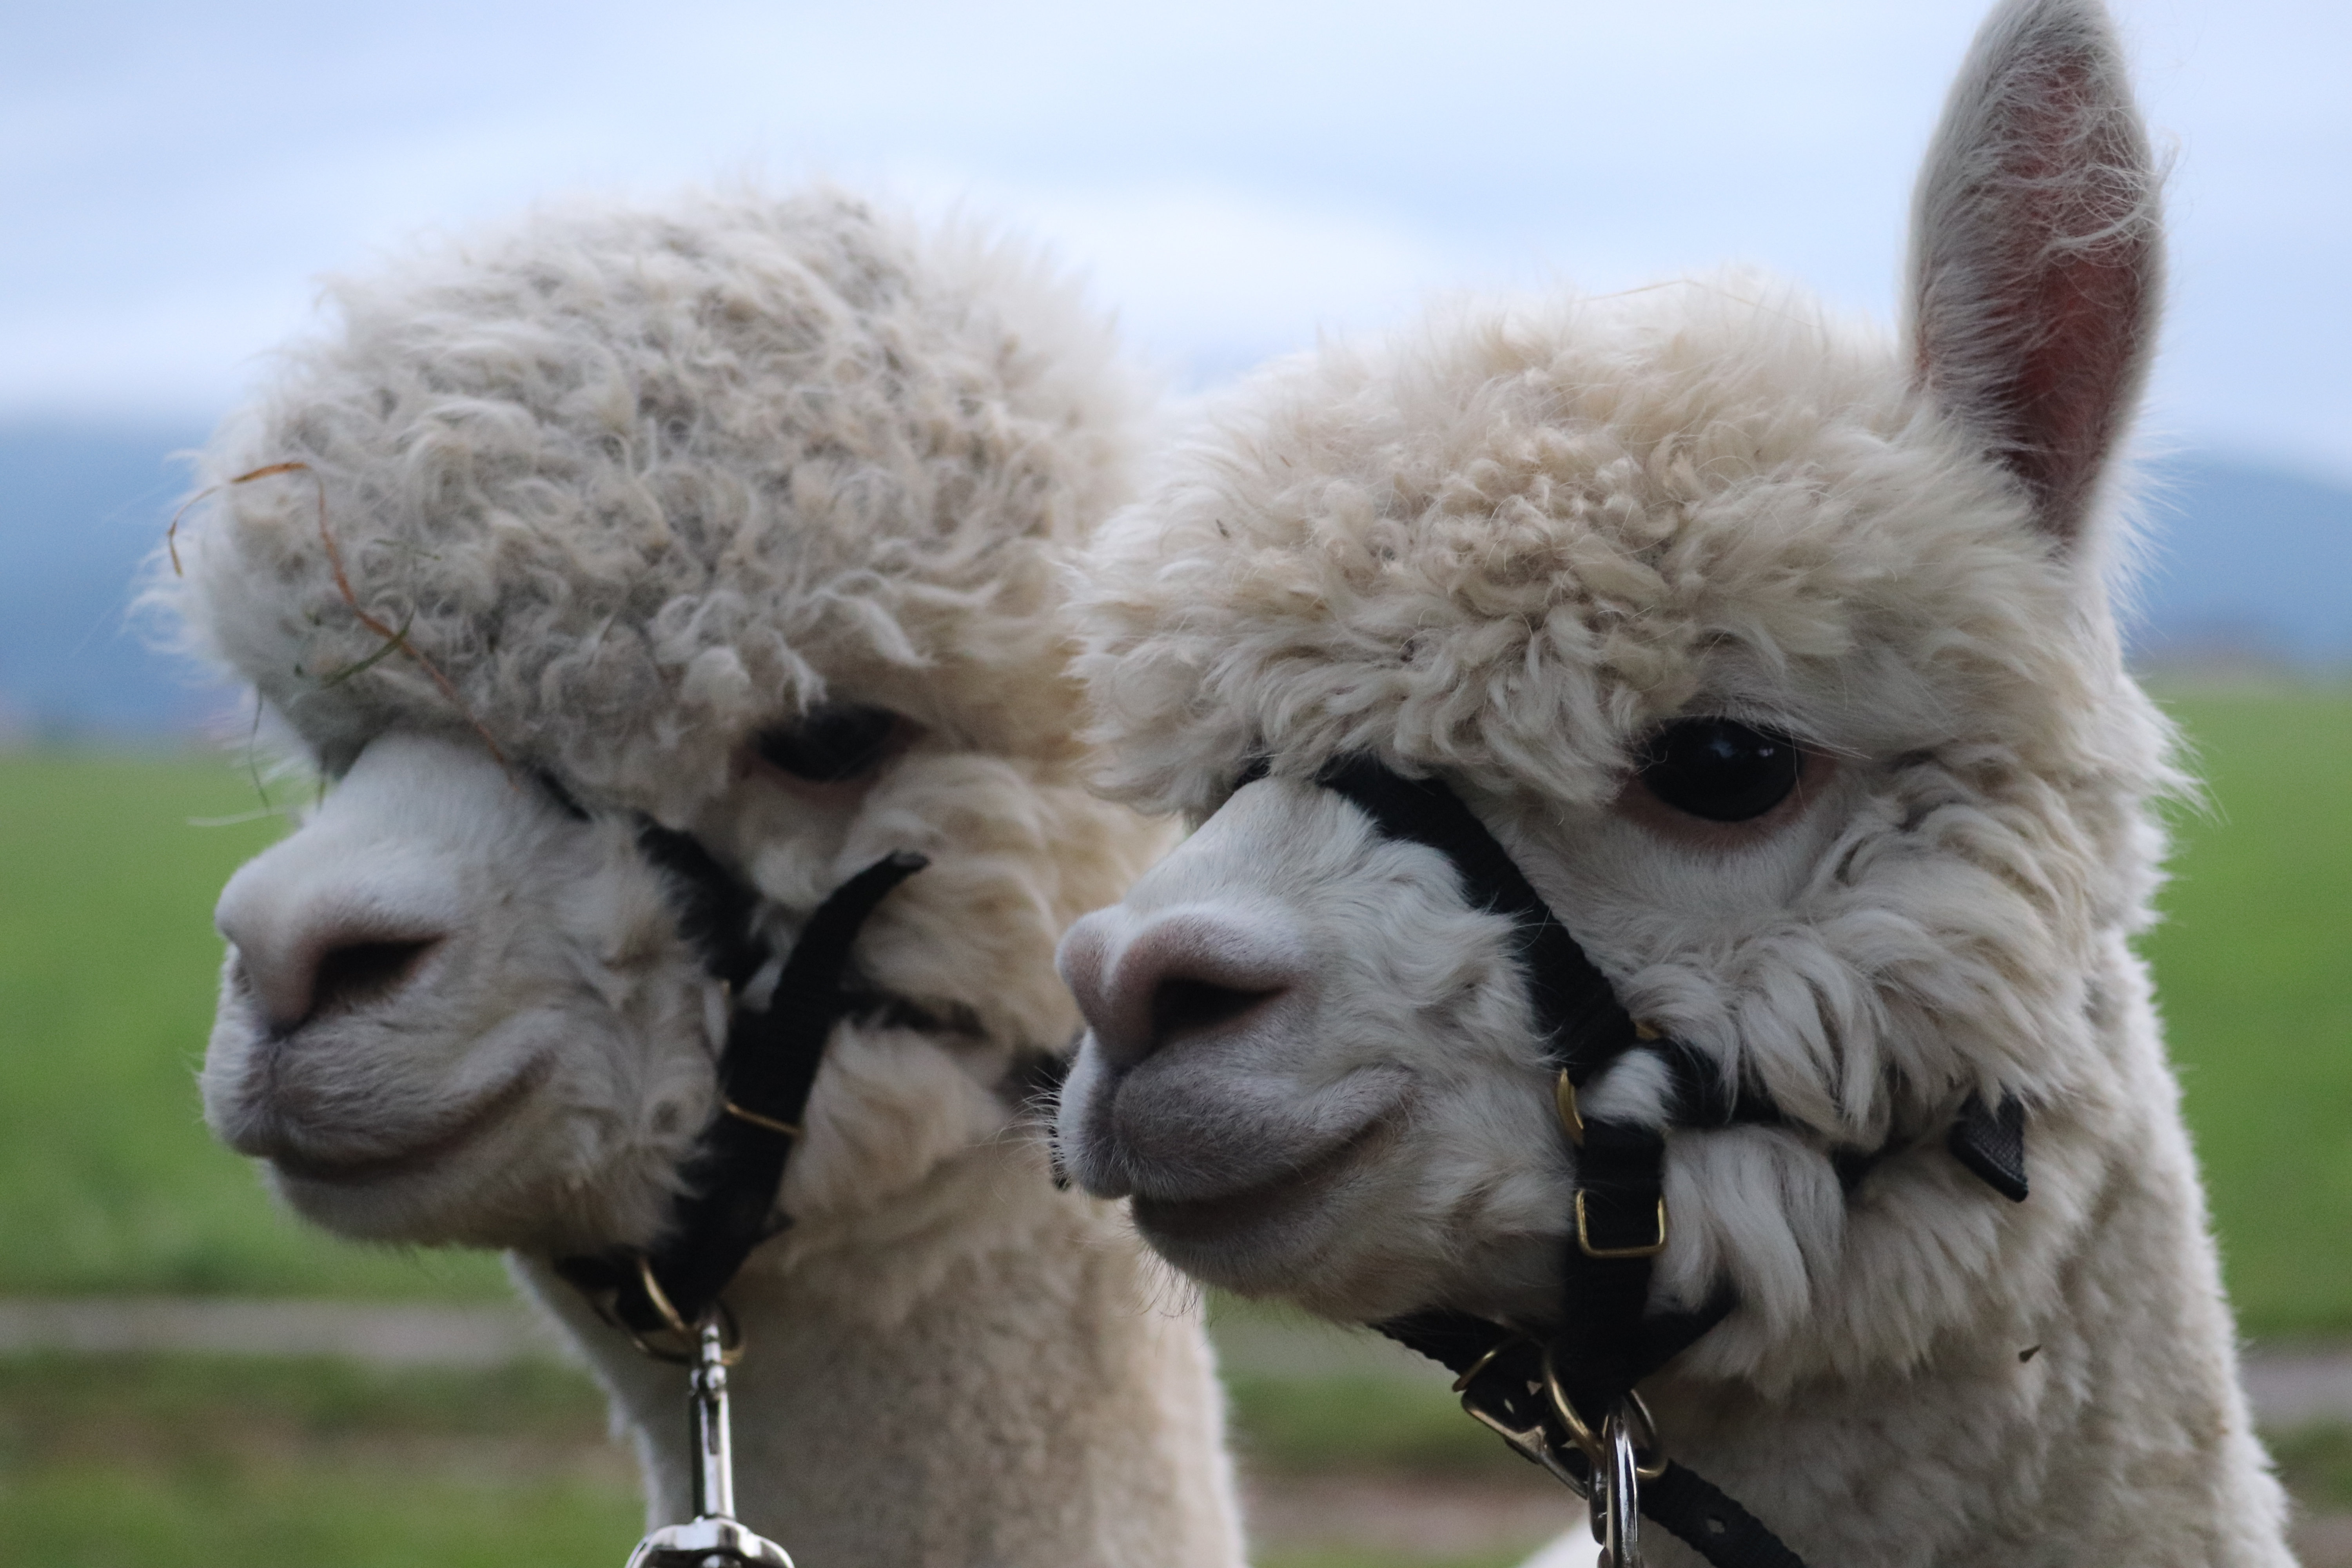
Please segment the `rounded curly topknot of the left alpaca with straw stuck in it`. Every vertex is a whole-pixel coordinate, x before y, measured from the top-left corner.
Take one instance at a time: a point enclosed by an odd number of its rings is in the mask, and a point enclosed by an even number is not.
[[[1141,402],[1035,256],[835,190],[696,195],[543,212],[332,301],[341,331],[205,454],[162,595],[329,773],[390,729],[480,731],[677,818],[828,696],[1065,755],[1061,559],[1122,498]]]

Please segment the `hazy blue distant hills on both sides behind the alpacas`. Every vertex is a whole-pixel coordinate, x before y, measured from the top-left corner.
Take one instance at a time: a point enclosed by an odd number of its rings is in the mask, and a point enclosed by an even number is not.
[[[226,710],[125,621],[188,482],[172,454],[202,437],[0,423],[0,731],[153,736]],[[2159,475],[2136,654],[2352,668],[2352,489],[2211,454]]]

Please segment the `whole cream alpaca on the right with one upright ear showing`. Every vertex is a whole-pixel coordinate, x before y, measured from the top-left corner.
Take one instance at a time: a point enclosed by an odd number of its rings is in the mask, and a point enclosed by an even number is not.
[[[1075,1180],[1345,1321],[1557,1347],[1566,1272],[1646,1258],[1628,1321],[1696,1331],[1656,1443],[1816,1568],[2286,1563],[2131,952],[2183,788],[2107,588],[2159,247],[2098,0],[2006,0],[1900,339],[1726,275],[1232,393],[1084,567],[1103,788],[1195,832],[1063,943]],[[1573,933],[1604,1070],[1374,773]],[[1592,1126],[1663,1131],[1599,1241]]]

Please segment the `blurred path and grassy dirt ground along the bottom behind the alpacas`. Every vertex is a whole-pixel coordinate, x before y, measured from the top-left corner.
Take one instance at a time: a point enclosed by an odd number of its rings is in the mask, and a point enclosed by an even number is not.
[[[435,1312],[0,1302],[0,1568],[619,1563],[635,1465],[586,1375],[520,1314]],[[1508,1568],[1581,1526],[1392,1347],[1247,1316],[1218,1338],[1256,1568]],[[2352,1568],[2345,1368],[2253,1361],[2300,1418],[2272,1448],[2305,1568]]]

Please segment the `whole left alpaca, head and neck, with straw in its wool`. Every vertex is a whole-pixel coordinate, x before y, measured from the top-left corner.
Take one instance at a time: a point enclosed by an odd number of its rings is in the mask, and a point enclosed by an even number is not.
[[[336,780],[221,896],[212,1128],[327,1229],[506,1248],[677,1523],[687,1378],[557,1265],[659,1241],[776,966],[713,980],[647,844],[776,954],[917,851],[724,1295],[736,1516],[837,1568],[1237,1563],[1197,1316],[1028,1110],[1061,929],[1164,842],[1077,780],[1056,621],[1141,409],[1108,331],[828,190],[539,214],[336,296],[165,588]]]

